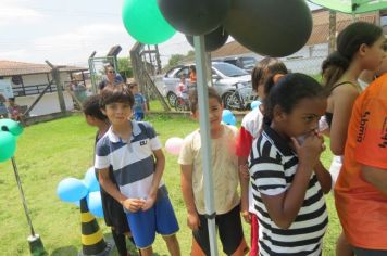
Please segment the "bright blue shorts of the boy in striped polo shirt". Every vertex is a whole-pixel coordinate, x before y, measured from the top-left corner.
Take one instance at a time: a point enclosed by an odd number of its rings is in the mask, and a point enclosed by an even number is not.
[[[158,197],[153,207],[147,212],[126,213],[133,239],[138,248],[152,245],[155,232],[172,235],[178,231],[178,223],[167,195]]]

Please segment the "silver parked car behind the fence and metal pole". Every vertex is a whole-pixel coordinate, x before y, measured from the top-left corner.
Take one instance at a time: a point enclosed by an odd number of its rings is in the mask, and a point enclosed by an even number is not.
[[[176,87],[182,75],[189,80],[189,66],[179,65],[170,69],[163,77],[164,95],[171,106],[177,99]],[[253,101],[251,76],[244,69],[225,62],[212,62],[212,82],[222,98],[225,108],[244,110]],[[194,88],[190,88],[194,89]]]

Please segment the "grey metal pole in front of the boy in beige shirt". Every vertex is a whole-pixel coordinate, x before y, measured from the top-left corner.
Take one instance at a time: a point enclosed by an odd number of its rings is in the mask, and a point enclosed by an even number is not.
[[[209,125],[209,92],[205,71],[204,36],[195,36],[195,59],[198,73],[198,99],[199,99],[199,123],[201,138],[201,154],[203,158],[204,193],[205,193],[205,217],[209,226],[211,256],[217,256],[215,208],[213,193],[212,161],[211,161],[211,137]]]

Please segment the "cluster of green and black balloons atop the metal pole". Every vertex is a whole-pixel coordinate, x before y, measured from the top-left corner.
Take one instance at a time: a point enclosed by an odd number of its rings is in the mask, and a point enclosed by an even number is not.
[[[161,43],[175,34],[204,35],[207,51],[232,35],[261,55],[286,56],[300,50],[312,33],[304,0],[125,0],[123,22],[136,40]]]

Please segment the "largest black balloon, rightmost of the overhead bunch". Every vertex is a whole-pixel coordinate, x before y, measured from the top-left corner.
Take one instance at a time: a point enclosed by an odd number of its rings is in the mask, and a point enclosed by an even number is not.
[[[313,21],[304,0],[234,0],[224,27],[251,51],[279,57],[307,43]]]

